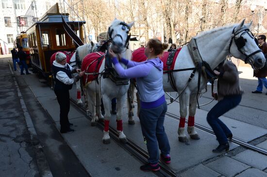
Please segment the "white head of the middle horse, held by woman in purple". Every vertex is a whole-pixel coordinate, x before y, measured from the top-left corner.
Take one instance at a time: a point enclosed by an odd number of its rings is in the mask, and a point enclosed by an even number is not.
[[[130,30],[133,25],[134,22],[126,24],[115,19],[108,28],[108,35],[112,42],[110,47],[115,53],[124,52],[128,48],[131,37]]]

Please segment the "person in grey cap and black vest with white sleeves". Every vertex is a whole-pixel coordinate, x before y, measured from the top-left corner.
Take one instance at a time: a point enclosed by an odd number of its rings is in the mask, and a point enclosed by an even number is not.
[[[77,82],[84,72],[80,69],[72,68],[66,61],[66,55],[58,52],[56,54],[56,60],[53,61],[52,69],[55,79],[54,92],[57,96],[57,101],[60,106],[60,132],[72,133],[73,129],[70,128],[73,124],[68,121],[69,112],[69,90],[72,88],[72,84]],[[79,73],[72,78],[71,73]]]

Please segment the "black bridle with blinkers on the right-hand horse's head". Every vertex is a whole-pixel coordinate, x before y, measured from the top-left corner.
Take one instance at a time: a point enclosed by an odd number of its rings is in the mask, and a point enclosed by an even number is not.
[[[235,29],[235,28],[234,28],[234,29]],[[231,48],[231,45],[232,45],[232,43],[233,43],[233,39],[234,39],[234,42],[235,42],[235,44],[236,44],[236,46],[237,46],[238,51],[239,51],[241,54],[243,54],[243,55],[246,56],[246,59],[244,60],[245,63],[250,62],[251,66],[253,67],[253,63],[252,63],[250,57],[251,57],[252,55],[256,54],[256,53],[262,52],[262,50],[259,49],[259,50],[256,50],[255,52],[252,52],[250,55],[247,55],[245,52],[243,52],[243,51],[241,50],[241,48],[244,47],[244,46],[246,45],[246,42],[247,42],[247,40],[244,39],[244,38],[242,37],[242,35],[245,34],[245,33],[248,33],[249,36],[250,36],[252,39],[255,40],[255,43],[256,43],[257,45],[258,45],[258,41],[257,41],[257,39],[253,36],[253,34],[252,34],[252,32],[250,31],[249,28],[247,28],[247,27],[243,27],[243,28],[241,28],[241,29],[238,29],[238,30],[235,31],[235,32],[234,32],[234,29],[233,29],[233,32],[232,32],[232,38],[231,38],[231,41],[230,41],[230,44],[229,44],[229,49],[228,49],[228,50],[229,50],[229,53],[230,53],[230,48]],[[243,31],[243,32],[242,32],[242,31]],[[249,31],[250,31],[250,33],[251,33],[252,36],[250,35]],[[237,34],[239,34],[240,32],[242,32],[242,33],[241,33],[241,35],[239,36],[239,38],[235,38],[235,36],[236,36]]]

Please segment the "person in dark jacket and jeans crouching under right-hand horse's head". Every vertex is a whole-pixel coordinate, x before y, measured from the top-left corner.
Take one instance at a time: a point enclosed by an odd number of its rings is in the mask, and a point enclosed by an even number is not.
[[[229,150],[227,138],[232,139],[233,134],[219,117],[241,102],[243,90],[239,86],[237,68],[231,61],[220,63],[214,73],[218,76],[218,92],[213,93],[212,96],[218,100],[218,103],[208,112],[207,121],[219,143],[219,146],[212,151],[222,152]]]

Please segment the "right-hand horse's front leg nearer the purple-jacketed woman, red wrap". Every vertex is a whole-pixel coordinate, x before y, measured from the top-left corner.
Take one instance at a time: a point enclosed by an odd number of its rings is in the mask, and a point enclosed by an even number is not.
[[[178,128],[178,139],[180,142],[186,143],[188,139],[184,133],[185,117],[187,114],[187,103],[189,93],[188,90],[184,90],[184,93],[179,97],[180,100],[180,122]]]

